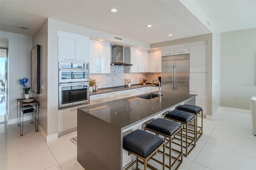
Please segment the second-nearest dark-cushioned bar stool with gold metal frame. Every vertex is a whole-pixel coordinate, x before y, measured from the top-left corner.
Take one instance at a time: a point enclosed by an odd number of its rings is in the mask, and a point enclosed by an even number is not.
[[[158,118],[148,123],[146,127],[144,127],[144,130],[149,130],[151,132],[155,132],[156,135],[160,134],[164,136],[164,140],[168,141],[165,143],[165,145],[169,143],[169,146],[165,146],[166,148],[169,148],[169,154],[166,154],[169,156],[169,166],[168,165],[165,165],[165,166],[171,170],[171,168],[174,167],[176,162],[179,161],[178,166],[175,168],[175,169],[178,169],[180,167],[180,164],[182,163],[182,155],[183,155],[182,154],[182,135],[181,135],[180,144],[178,144],[178,146],[180,146],[180,151],[172,148],[172,143],[173,143],[172,138],[174,138],[175,134],[178,134],[178,133],[182,134],[182,125],[174,121]],[[178,153],[177,157],[172,156],[172,152],[171,152],[172,150]],[[171,163],[172,162],[171,158],[174,159],[173,163]],[[158,163],[161,163],[154,158],[151,158],[151,159],[155,160]]]

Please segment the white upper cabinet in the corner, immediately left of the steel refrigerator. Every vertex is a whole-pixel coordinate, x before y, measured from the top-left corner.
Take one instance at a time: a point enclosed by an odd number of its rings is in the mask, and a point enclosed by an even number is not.
[[[162,72],[162,53],[161,51],[156,51],[150,53],[150,72],[160,73]]]

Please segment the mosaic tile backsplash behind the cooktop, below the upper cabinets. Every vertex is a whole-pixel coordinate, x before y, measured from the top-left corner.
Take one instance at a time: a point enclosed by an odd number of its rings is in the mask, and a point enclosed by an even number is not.
[[[153,79],[161,76],[161,73],[124,73],[124,65],[111,65],[110,73],[90,74],[90,78],[96,79],[98,88],[127,85],[130,78],[131,84],[140,84],[146,78],[146,83],[151,83]],[[154,82],[156,83],[156,82]]]

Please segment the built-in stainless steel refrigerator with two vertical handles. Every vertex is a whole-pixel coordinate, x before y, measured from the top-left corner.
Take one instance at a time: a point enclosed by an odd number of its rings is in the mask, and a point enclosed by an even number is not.
[[[189,94],[189,54],[162,57],[162,91]]]

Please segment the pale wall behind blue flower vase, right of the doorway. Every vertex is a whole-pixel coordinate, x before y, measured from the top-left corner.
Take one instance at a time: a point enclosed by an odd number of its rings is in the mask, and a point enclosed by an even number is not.
[[[31,87],[32,36],[0,31],[0,37],[8,38],[8,115],[17,118],[17,99],[24,98],[19,79],[28,78]],[[30,92],[31,93],[31,92]],[[30,94],[32,97],[32,94]]]

